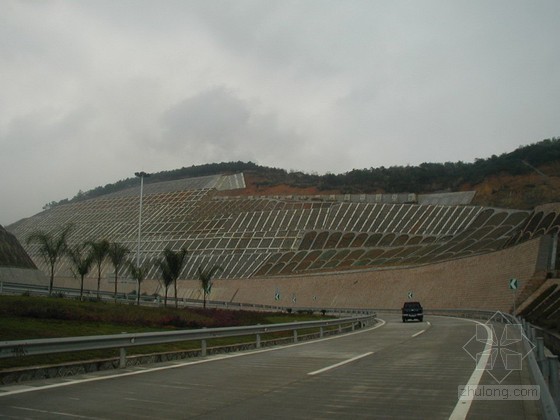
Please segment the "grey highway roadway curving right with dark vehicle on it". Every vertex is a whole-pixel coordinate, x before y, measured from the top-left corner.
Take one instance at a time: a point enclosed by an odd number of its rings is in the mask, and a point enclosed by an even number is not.
[[[458,401],[469,381],[530,384],[525,367],[475,369],[471,353],[490,344],[473,340],[475,322],[380,318],[313,342],[1,387],[0,418],[539,418],[537,401]]]

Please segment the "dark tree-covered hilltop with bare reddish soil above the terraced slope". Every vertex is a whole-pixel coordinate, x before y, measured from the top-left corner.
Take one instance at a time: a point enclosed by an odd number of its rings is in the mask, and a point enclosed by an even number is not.
[[[560,202],[560,138],[522,146],[510,153],[476,159],[475,162],[422,163],[353,169],[325,175],[286,171],[252,162],[222,162],[163,171],[146,178],[146,183],[181,178],[244,172],[247,189],[235,194],[373,194],[433,193],[476,190],[481,205],[530,209],[538,204]],[[74,198],[45,207],[98,197],[138,185],[128,178],[93,190],[80,191]]]

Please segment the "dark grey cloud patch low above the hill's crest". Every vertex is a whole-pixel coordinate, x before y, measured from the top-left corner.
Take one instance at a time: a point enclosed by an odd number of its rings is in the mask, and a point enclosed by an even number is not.
[[[171,155],[182,152],[199,162],[274,161],[281,150],[294,150],[298,140],[273,115],[260,113],[225,87],[173,105],[163,113],[161,127],[161,141],[154,148]]]

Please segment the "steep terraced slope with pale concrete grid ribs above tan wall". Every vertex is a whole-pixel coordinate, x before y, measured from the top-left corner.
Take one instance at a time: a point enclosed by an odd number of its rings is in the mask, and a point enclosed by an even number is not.
[[[140,257],[186,248],[181,278],[220,265],[221,278],[417,266],[502,249],[519,238],[530,213],[472,205],[407,203],[414,195],[228,196],[242,174],[151,184],[145,189]],[[413,197],[414,198],[414,197]],[[448,199],[448,198],[446,198]],[[425,200],[430,203],[434,201]],[[138,190],[56,206],[9,230],[25,243],[35,230],[74,225],[70,243],[108,239],[137,247]],[[520,240],[520,239],[519,239]],[[34,245],[26,250],[41,265]],[[104,267],[110,277],[111,267]],[[59,276],[71,276],[68,263]]]

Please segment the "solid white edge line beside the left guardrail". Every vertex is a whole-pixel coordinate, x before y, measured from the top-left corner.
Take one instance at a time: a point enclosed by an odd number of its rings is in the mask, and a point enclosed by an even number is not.
[[[59,388],[59,387],[62,387],[62,386],[78,385],[78,384],[85,383],[85,382],[103,381],[103,380],[106,380],[106,379],[120,378],[120,377],[123,377],[123,376],[141,375],[143,373],[157,372],[157,371],[160,371],[160,370],[167,370],[167,369],[175,369],[175,368],[180,368],[180,367],[189,366],[189,365],[198,365],[198,364],[201,364],[201,363],[214,362],[214,361],[223,360],[223,359],[232,359],[234,357],[249,356],[251,354],[265,353],[265,352],[269,352],[269,351],[278,351],[278,350],[283,350],[283,349],[287,349],[287,348],[291,348],[291,347],[313,344],[313,343],[317,343],[317,342],[320,342],[320,341],[335,340],[335,339],[338,339],[338,338],[348,337],[350,335],[355,335],[355,334],[362,334],[364,332],[375,330],[375,329],[377,329],[379,327],[382,327],[383,325],[386,324],[386,322],[383,319],[381,319],[381,318],[377,318],[377,319],[380,321],[379,324],[376,325],[375,327],[372,327],[372,328],[364,328],[364,329],[360,329],[358,331],[354,331],[354,332],[351,332],[351,333],[348,333],[348,334],[335,335],[335,336],[332,336],[332,337],[319,338],[319,339],[310,340],[310,341],[303,341],[303,342],[300,342],[300,343],[289,344],[289,345],[286,345],[286,346],[271,347],[271,348],[268,348],[268,349],[253,350],[253,351],[240,352],[240,353],[235,353],[235,354],[209,356],[208,358],[202,359],[202,360],[193,360],[193,361],[189,361],[189,362],[176,363],[176,364],[168,365],[168,366],[159,366],[159,367],[154,367],[154,368],[149,368],[149,369],[136,370],[136,371],[133,371],[133,372],[122,372],[122,373],[115,373],[113,375],[96,376],[95,378],[76,379],[76,380],[70,380],[68,382],[61,382],[61,383],[51,384],[51,385],[44,385],[44,386],[37,386],[37,387],[28,385],[24,389],[15,389],[13,391],[2,392],[2,390],[0,389],[0,398],[8,396],[8,395],[23,394],[23,393],[26,393],[26,392],[41,391],[43,389]]]

